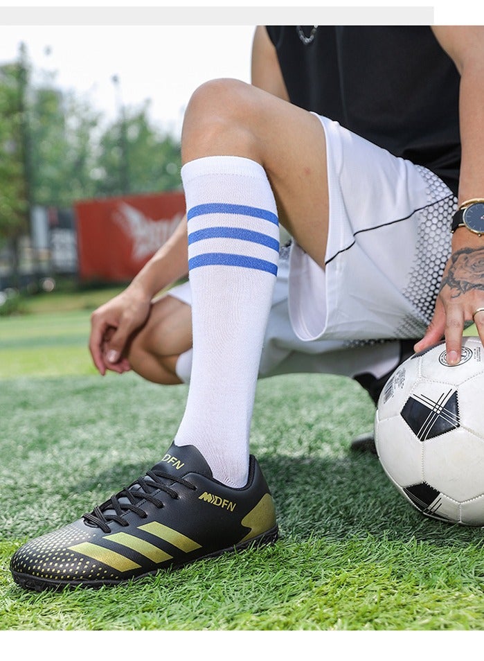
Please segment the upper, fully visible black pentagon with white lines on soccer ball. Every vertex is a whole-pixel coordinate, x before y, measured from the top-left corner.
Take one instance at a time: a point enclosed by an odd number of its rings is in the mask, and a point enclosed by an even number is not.
[[[459,427],[457,391],[443,392],[437,400],[414,393],[406,400],[400,415],[419,441],[451,432]]]

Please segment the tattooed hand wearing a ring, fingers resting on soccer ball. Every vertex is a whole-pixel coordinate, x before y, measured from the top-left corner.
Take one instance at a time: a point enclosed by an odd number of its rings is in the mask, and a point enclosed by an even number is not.
[[[423,351],[445,336],[447,362],[460,361],[465,321],[473,319],[478,308],[484,308],[484,237],[465,228],[457,229],[452,240],[453,252],[442,277],[436,309],[427,333],[415,344],[415,351]],[[484,344],[484,313],[474,322]]]

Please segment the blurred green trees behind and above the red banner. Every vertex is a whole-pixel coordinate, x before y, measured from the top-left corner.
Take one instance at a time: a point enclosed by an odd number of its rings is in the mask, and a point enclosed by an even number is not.
[[[180,146],[154,125],[149,103],[107,123],[44,76],[33,85],[25,49],[0,68],[0,240],[28,227],[28,209],[180,186]]]

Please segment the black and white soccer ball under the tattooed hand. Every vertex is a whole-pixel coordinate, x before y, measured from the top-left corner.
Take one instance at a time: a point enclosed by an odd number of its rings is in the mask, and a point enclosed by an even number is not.
[[[445,356],[441,342],[395,370],[379,397],[375,445],[424,515],[484,526],[484,348],[465,337],[458,365]]]

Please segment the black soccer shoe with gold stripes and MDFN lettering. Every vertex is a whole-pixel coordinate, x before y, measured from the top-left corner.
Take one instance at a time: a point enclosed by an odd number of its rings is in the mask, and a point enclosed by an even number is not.
[[[98,588],[277,536],[274,501],[254,457],[247,486],[230,488],[213,479],[196,448],[172,445],[147,475],[91,513],[20,547],[10,570],[30,590]]]

